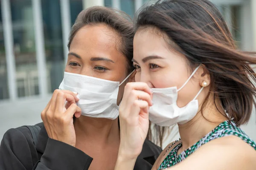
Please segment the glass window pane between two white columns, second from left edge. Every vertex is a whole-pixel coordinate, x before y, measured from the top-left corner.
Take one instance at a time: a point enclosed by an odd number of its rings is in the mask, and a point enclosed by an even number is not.
[[[11,0],[18,97],[38,95],[38,69],[31,0]]]

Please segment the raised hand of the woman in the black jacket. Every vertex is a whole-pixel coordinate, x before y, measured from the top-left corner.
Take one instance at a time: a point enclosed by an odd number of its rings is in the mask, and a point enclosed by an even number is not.
[[[78,101],[79,98],[71,91],[54,91],[52,99],[41,113],[49,138],[75,147],[76,133],[73,116],[77,118],[81,116],[81,108],[76,105]]]

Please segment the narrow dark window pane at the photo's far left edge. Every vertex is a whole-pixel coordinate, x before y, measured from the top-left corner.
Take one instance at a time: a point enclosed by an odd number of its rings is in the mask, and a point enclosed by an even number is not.
[[[3,22],[2,22],[2,11],[0,2],[0,100],[8,99],[8,79],[6,69],[6,55],[3,38]]]

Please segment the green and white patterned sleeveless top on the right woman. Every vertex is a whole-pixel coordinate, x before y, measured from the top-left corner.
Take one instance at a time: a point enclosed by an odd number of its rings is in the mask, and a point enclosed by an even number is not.
[[[215,129],[213,129],[206,136],[200,139],[192,147],[189,147],[188,149],[184,150],[179,155],[177,155],[177,151],[182,147],[182,142],[177,144],[177,146],[175,146],[171,150],[171,152],[166,156],[166,158],[163,160],[158,170],[163,170],[168,167],[172,167],[175,164],[178,164],[179,162],[185,160],[189,155],[194,153],[196,150],[198,150],[198,148],[201,147],[203,144],[206,144],[207,142],[213,139],[221,138],[224,136],[232,136],[232,135],[238,136],[244,142],[250,144],[256,150],[256,142],[250,139],[250,137],[247,136],[243,130],[237,127],[234,122],[231,121],[230,123],[229,121],[225,121],[225,122],[222,122],[217,127],[215,127]]]

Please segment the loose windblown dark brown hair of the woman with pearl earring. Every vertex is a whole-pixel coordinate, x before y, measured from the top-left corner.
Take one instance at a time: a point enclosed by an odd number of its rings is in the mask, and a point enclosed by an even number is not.
[[[210,94],[237,125],[250,119],[256,96],[254,53],[239,51],[221,13],[208,0],[158,0],[142,8],[135,29],[156,28],[183,54],[191,70],[202,64],[209,71]],[[165,37],[163,36],[163,37]],[[173,42],[178,47],[173,45]],[[215,103],[216,105],[216,103]]]

